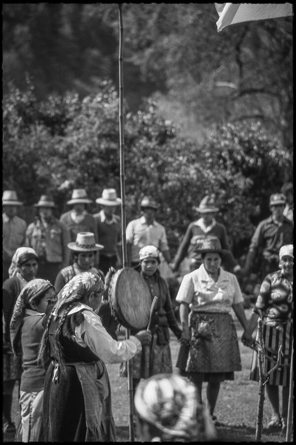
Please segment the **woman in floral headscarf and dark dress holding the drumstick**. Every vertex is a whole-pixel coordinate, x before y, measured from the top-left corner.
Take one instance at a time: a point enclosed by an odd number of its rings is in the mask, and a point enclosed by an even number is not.
[[[51,359],[44,385],[45,442],[116,440],[105,362],[131,359],[151,334],[112,339],[95,313],[104,290],[99,275],[82,272],[59,292],[49,316],[39,351]]]

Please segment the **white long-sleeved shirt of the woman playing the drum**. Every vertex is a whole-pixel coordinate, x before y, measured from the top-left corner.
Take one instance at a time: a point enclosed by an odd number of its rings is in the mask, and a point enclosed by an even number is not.
[[[69,315],[81,311],[82,308],[87,309],[83,311],[84,321],[75,326],[75,335],[72,336],[80,346],[88,346],[105,363],[127,361],[142,351],[140,340],[133,335],[128,340],[114,340],[104,328],[99,315],[89,306],[79,303]]]

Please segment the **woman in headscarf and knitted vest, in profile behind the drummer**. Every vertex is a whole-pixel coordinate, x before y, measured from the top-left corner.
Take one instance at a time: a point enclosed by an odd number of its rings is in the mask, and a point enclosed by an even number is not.
[[[53,285],[47,280],[37,278],[26,284],[14,306],[10,321],[11,345],[15,354],[22,353],[23,359],[19,400],[21,421],[15,442],[40,442],[43,439],[45,368],[37,356],[46,326],[46,314],[54,300]]]

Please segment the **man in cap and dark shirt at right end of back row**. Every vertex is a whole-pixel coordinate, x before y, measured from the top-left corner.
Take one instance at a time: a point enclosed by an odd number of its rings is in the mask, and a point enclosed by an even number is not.
[[[259,258],[260,278],[278,270],[279,251],[286,244],[293,244],[294,224],[284,216],[285,195],[274,193],[269,199],[270,217],[261,221],[251,240],[242,274],[247,275]]]

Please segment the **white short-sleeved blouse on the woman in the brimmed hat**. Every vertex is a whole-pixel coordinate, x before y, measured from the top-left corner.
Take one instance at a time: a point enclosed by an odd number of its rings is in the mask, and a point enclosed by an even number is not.
[[[188,303],[194,312],[227,313],[233,304],[242,303],[244,298],[233,273],[220,268],[215,282],[202,264],[184,276],[176,301]]]

